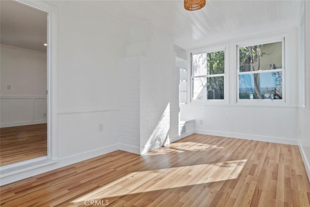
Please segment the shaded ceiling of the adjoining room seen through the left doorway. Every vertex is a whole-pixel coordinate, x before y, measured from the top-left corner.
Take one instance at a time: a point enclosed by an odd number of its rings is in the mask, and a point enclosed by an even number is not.
[[[47,14],[19,3],[0,0],[0,43],[46,52]]]

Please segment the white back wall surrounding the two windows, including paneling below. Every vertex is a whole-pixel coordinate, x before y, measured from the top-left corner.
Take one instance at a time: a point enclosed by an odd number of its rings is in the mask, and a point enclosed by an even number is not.
[[[277,39],[285,36],[285,103],[236,102],[236,46],[239,42]],[[298,143],[297,54],[298,31],[265,32],[254,37],[236,38],[228,44],[226,67],[228,100],[225,103],[181,105],[181,120],[195,119],[195,132],[275,143]],[[190,63],[189,63],[190,64]],[[190,68],[190,65],[188,65]],[[188,71],[190,76],[190,71]],[[190,87],[190,85],[188,85]],[[189,89],[187,89],[189,91]],[[190,95],[189,95],[190,96]],[[201,124],[202,123],[202,124]]]

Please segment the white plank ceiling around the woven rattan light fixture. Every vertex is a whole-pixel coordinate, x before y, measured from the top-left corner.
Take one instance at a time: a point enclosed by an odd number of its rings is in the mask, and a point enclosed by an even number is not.
[[[185,49],[298,26],[302,6],[301,0],[206,0],[201,10],[186,11],[183,0],[116,0],[108,7],[106,3],[95,2],[96,8],[129,25],[151,21]]]

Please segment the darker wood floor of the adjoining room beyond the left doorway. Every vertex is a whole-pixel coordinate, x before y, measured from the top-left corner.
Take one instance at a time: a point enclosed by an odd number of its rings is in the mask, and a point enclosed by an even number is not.
[[[0,128],[0,165],[47,155],[47,124]]]

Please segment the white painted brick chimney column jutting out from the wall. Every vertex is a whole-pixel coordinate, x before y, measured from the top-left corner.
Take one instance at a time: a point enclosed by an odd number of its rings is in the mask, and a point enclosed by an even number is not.
[[[131,28],[119,67],[120,148],[143,154],[178,136],[179,70],[171,36],[151,24]]]

